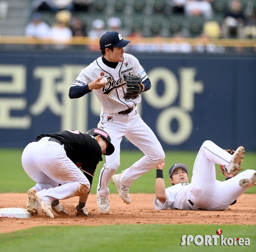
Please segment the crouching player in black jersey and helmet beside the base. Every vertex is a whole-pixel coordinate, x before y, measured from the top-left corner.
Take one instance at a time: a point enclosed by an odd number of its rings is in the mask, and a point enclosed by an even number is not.
[[[59,199],[79,196],[76,216],[91,216],[85,203],[101,155],[111,155],[114,146],[110,136],[101,129],[87,134],[65,130],[40,134],[22,153],[22,166],[37,184],[28,191],[27,210],[38,213],[38,206],[50,218],[54,212],[68,214]],[[80,168],[80,169],[79,169]],[[81,172],[82,171],[82,172]],[[61,185],[61,186],[59,186]]]

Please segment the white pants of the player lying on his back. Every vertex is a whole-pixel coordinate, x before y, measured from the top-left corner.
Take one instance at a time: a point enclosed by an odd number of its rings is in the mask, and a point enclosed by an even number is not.
[[[239,185],[240,179],[254,170],[240,172],[227,181],[217,181],[215,165],[226,167],[231,162],[232,155],[218,147],[212,141],[205,141],[200,148],[193,167],[189,199],[194,203],[192,208],[204,210],[225,210],[248,188]]]

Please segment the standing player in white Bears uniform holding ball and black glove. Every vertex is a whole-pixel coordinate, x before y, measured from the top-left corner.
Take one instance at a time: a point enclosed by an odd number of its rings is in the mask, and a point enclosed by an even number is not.
[[[139,94],[149,90],[151,83],[138,59],[124,53],[123,47],[130,42],[115,31],[103,34],[99,40],[102,57],[83,69],[69,89],[70,98],[79,98],[93,90],[102,105],[98,128],[109,133],[115,147],[111,156],[105,156],[99,176],[97,205],[102,214],[110,212],[108,184],[112,177],[120,197],[130,204],[129,187],[132,182],[165,158],[157,137],[140,118],[136,108],[141,101]],[[106,81],[102,80],[103,77]],[[121,174],[114,175],[120,165],[123,136],[145,156]]]

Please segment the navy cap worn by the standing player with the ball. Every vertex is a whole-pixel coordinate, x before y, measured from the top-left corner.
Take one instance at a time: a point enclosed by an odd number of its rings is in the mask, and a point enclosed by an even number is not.
[[[131,40],[125,40],[122,38],[121,34],[116,31],[108,31],[101,36],[99,39],[99,48],[101,50],[109,48],[109,47],[125,47]]]

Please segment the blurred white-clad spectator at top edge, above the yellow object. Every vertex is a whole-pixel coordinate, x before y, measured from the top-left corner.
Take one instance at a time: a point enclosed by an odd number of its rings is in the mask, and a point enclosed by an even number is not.
[[[212,19],[212,7],[205,0],[188,0],[185,5],[185,12],[188,17],[203,15],[206,20]]]

